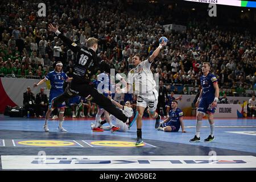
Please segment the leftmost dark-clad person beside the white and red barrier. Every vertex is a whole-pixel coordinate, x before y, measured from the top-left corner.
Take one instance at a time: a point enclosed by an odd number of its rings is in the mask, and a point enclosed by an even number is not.
[[[27,91],[23,93],[23,106],[26,109],[26,113],[29,111],[30,116],[35,115],[35,96],[31,92],[30,86],[27,87]]]

